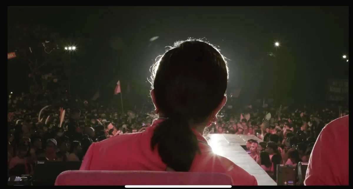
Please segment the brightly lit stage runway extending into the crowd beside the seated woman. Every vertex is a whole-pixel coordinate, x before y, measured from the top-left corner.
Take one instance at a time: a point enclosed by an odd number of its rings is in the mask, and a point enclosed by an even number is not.
[[[273,179],[254,161],[241,145],[249,139],[262,142],[255,135],[209,134],[208,143],[216,154],[228,158],[239,167],[255,176],[258,185],[277,185]]]

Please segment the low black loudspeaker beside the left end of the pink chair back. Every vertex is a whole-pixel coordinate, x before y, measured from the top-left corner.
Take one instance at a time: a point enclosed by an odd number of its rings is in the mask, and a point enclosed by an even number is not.
[[[32,177],[33,185],[54,185],[60,173],[79,170],[82,161],[38,161]]]

